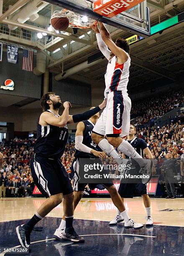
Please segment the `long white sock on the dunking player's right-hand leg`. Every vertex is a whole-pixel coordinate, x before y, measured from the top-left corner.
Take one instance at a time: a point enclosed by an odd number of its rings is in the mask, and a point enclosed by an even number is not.
[[[122,143],[118,146],[118,150],[121,151],[126,156],[130,156],[131,158],[135,159],[136,162],[141,167],[144,167],[147,164],[147,161],[143,159],[133,148],[133,146],[128,142],[123,140]]]

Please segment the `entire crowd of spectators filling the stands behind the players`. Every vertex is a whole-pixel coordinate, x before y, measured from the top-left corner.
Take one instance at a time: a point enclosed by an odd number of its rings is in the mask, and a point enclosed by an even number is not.
[[[170,94],[169,94],[170,95]],[[166,112],[182,105],[184,99],[184,90],[180,93],[173,92],[171,96],[164,95],[154,100],[140,102],[132,108],[133,115],[142,115],[141,123],[143,124],[150,118],[158,118]],[[151,102],[151,104],[150,104]],[[184,122],[182,121],[183,113],[178,115],[178,121],[168,124],[163,127],[144,125],[140,128],[139,125],[134,125],[137,128],[137,137],[143,138],[154,158],[157,174],[162,160],[169,152],[171,157],[179,159],[184,149]],[[4,163],[0,165],[0,197],[24,197],[31,196],[34,182],[31,177],[30,161],[34,154],[35,138],[21,140],[15,138],[11,141],[3,139],[0,142],[0,152],[3,153]],[[66,168],[70,169],[74,160],[75,146],[74,142],[66,144],[66,149],[61,162]],[[120,153],[120,152],[119,152]]]

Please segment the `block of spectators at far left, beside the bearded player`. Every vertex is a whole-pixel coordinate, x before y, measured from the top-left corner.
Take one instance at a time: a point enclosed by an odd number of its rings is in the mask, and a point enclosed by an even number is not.
[[[33,157],[35,139],[3,140],[0,152],[4,163],[0,166],[0,197],[31,196],[34,182],[31,177],[30,161]]]

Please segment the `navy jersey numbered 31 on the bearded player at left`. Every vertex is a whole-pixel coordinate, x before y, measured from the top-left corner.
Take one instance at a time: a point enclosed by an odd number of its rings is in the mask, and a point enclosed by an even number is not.
[[[47,110],[47,112],[51,112]],[[52,113],[52,112],[51,112]],[[55,115],[53,113],[53,115]],[[56,115],[55,115],[56,116]],[[60,158],[68,140],[68,128],[54,125],[40,125],[37,121],[37,140],[34,146],[34,152],[47,158]]]

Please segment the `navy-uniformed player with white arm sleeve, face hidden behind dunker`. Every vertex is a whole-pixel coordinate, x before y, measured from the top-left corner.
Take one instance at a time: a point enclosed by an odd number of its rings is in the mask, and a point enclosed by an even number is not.
[[[72,163],[72,169],[74,170],[74,178],[73,178],[73,184],[74,184],[74,209],[77,207],[79,201],[82,198],[82,195],[84,193],[84,188],[87,184],[80,183],[79,177],[80,177],[80,159],[89,159],[89,158],[102,158],[105,159],[106,155],[102,152],[102,150],[92,141],[91,134],[92,129],[95,126],[95,123],[99,119],[100,115],[99,113],[93,115],[89,120],[79,122],[77,125],[77,131],[75,133],[75,160]],[[95,172],[95,170],[94,170]],[[91,183],[89,184],[89,187],[91,189],[95,189],[95,187],[99,184]],[[143,227],[143,224],[136,223],[132,219],[130,219],[128,213],[125,211],[125,206],[123,205],[123,202],[121,200],[120,195],[118,194],[113,182],[111,183],[104,183],[102,184],[103,187],[105,187],[108,192],[110,193],[110,197],[112,199],[112,202],[114,205],[119,209],[123,216],[123,220],[125,219],[125,228],[134,228],[139,229]],[[66,217],[63,216],[61,220],[61,224],[59,225],[59,228],[56,229],[54,233],[54,238],[62,240],[66,239],[64,230],[66,228]]]

